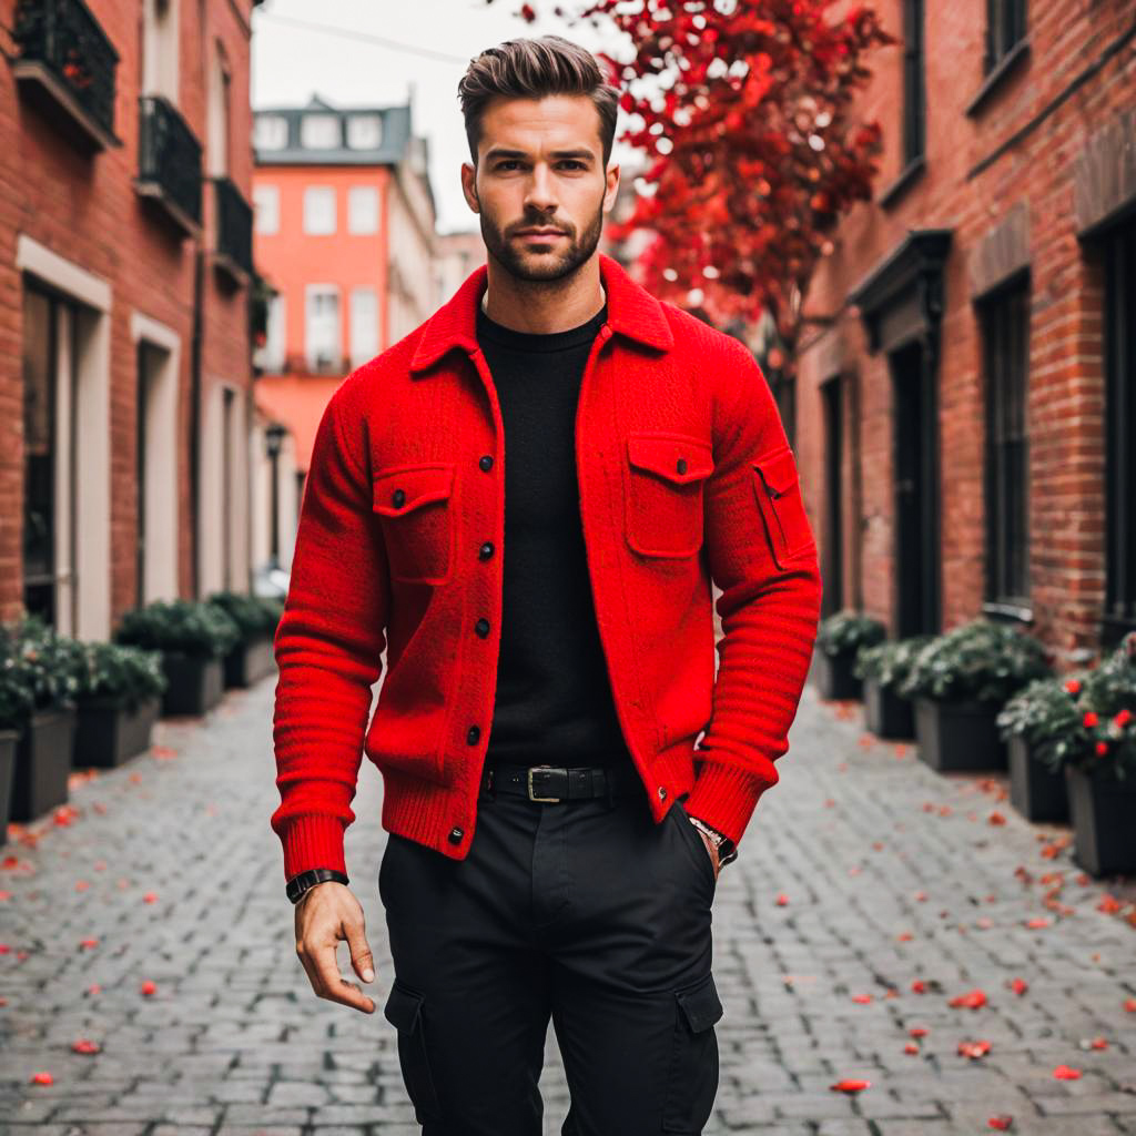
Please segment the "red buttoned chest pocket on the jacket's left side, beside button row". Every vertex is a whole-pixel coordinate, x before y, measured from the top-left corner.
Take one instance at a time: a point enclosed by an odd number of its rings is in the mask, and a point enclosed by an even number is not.
[[[375,474],[371,508],[392,579],[444,584],[453,570],[453,462],[391,466]]]

